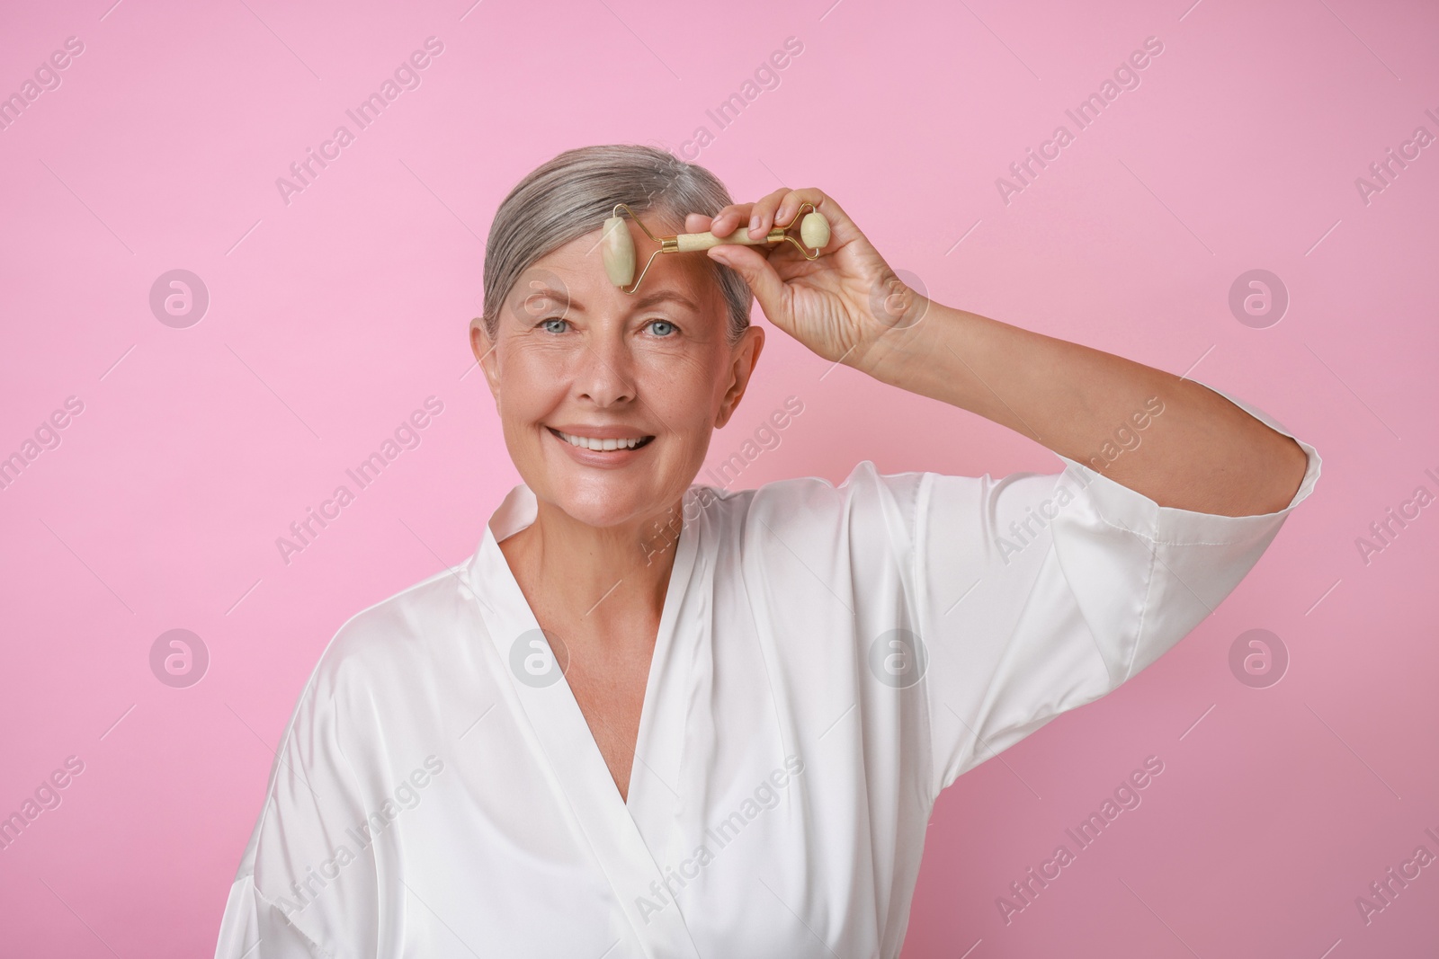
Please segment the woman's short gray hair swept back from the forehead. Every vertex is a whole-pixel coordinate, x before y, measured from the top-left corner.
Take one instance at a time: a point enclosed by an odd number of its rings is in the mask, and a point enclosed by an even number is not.
[[[712,173],[658,147],[609,144],[567,150],[535,167],[495,211],[485,244],[485,332],[494,342],[499,313],[519,275],[566,243],[600,229],[616,203],[658,213],[684,230],[686,213],[714,216],[734,203]],[[646,223],[656,234],[653,223]],[[637,250],[637,260],[650,250]],[[705,257],[730,312],[730,344],[750,325],[753,293],[728,266]]]

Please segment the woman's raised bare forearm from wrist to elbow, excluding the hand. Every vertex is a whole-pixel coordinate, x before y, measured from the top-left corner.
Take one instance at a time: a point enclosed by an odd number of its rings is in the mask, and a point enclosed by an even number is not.
[[[1017,430],[1160,506],[1250,516],[1284,509],[1299,489],[1299,444],[1202,384],[907,290],[896,298],[921,321],[881,326],[846,364]]]

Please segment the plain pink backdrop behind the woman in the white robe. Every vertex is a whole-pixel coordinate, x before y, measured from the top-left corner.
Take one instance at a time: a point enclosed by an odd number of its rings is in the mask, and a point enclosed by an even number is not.
[[[0,92],[69,36],[85,50],[0,131],[0,456],[66,397],[83,413],[0,490],[0,814],[66,756],[85,771],[0,853],[0,953],[213,950],[271,751],[325,643],[463,561],[517,482],[466,375],[496,204],[564,148],[679,151],[698,125],[714,134],[698,161],[737,198],[817,185],[940,302],[1193,367],[1325,459],[1193,635],[941,798],[905,956],[1432,949],[1439,866],[1370,924],[1354,899],[1419,844],[1439,853],[1423,834],[1439,832],[1439,508],[1367,565],[1356,538],[1416,486],[1439,492],[1423,473],[1439,473],[1439,147],[1367,206],[1354,180],[1416,127],[1439,134],[1439,13],[830,1],[6,4]],[[286,206],[275,178],[427,36],[445,50],[423,83]],[[803,53],[780,86],[718,129],[705,111],[789,36]],[[1006,206],[996,177],[1148,36],[1164,52],[1138,89]],[[210,293],[186,329],[148,306],[176,267]],[[1291,295],[1265,329],[1227,306],[1255,267]],[[743,486],[837,482],[862,459],[1061,466],[827,370],[771,329],[711,462],[797,395],[804,413]],[[429,395],[445,411],[422,444],[285,565],[276,536]],[[171,628],[212,657],[189,689],[150,669]],[[1268,689],[1229,669],[1250,628],[1289,650]],[[996,897],[1148,755],[1166,768],[1143,805],[1006,924]]]

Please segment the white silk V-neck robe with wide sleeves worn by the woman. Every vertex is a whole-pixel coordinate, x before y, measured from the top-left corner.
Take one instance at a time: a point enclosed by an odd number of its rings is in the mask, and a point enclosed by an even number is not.
[[[216,956],[898,956],[938,792],[1217,607],[1314,489],[1301,446],[1239,518],[1068,459],[692,486],[627,801],[498,548],[517,486],[321,656]]]

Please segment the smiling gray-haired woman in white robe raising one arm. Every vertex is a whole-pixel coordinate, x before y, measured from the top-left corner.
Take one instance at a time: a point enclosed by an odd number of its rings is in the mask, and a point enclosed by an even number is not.
[[[718,236],[809,201],[833,236],[662,256],[627,296],[620,201]],[[1068,469],[694,486],[764,344],[750,290]],[[896,956],[938,792],[1174,646],[1320,474],[1207,387],[915,295],[819,190],[734,204],[645,147],[515,187],[471,341],[524,485],[325,650],[220,958]]]

